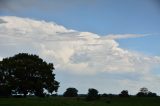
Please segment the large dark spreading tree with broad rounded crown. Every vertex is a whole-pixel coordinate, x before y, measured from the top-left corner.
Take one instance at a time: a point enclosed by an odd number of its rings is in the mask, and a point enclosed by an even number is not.
[[[44,89],[57,92],[59,82],[53,70],[52,63],[46,63],[37,55],[19,53],[0,62],[0,85],[7,87],[9,93],[24,96],[28,93],[42,96]]]

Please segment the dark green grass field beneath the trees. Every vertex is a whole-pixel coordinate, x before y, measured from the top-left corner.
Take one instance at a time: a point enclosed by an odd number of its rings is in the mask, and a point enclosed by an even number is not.
[[[0,98],[0,106],[160,106],[160,98],[130,97],[101,98],[85,101],[84,98]]]

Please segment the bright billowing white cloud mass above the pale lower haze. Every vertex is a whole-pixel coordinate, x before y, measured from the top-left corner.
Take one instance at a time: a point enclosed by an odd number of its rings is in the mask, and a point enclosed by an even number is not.
[[[0,56],[3,57],[17,52],[36,53],[53,62],[57,70],[76,74],[143,73],[160,65],[159,56],[125,50],[116,41],[145,35],[100,36],[67,29],[54,22],[11,16],[0,17],[0,20],[5,22],[0,24],[0,49],[3,51]]]

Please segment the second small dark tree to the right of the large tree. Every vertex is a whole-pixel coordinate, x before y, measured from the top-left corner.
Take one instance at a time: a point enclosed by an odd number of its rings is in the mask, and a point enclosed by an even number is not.
[[[87,95],[87,100],[96,100],[99,98],[98,90],[94,88],[88,89],[88,95]]]

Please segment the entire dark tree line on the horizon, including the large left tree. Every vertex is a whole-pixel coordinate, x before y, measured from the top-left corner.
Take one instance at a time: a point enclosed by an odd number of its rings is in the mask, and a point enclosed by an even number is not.
[[[39,56],[19,53],[13,57],[4,58],[0,61],[0,97],[34,95],[39,97],[56,93],[59,82],[55,80],[54,65],[47,63]],[[67,88],[64,97],[77,97],[76,88]],[[100,97],[120,96],[129,97],[128,90],[123,90],[119,95],[99,94],[94,88],[88,89],[83,95],[87,100],[95,100]],[[143,87],[136,94],[138,97],[157,97],[156,93],[148,91]]]

